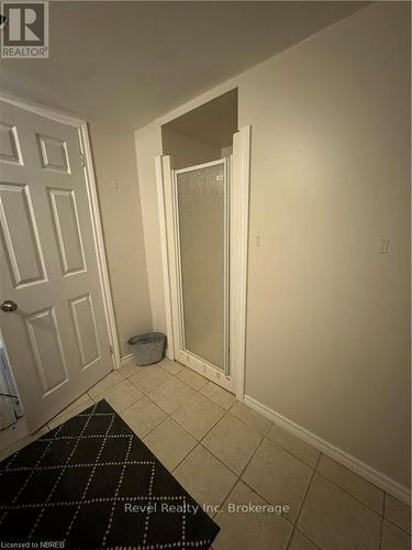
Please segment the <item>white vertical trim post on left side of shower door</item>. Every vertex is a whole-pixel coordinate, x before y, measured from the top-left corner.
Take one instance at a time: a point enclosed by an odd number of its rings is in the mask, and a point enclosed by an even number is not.
[[[164,196],[164,177],[166,173],[170,173],[170,157],[156,156],[155,162],[156,162],[157,208],[159,211],[159,226],[160,226],[163,284],[164,284],[165,307],[166,307],[166,330],[167,330],[166,355],[171,361],[175,361],[174,329],[171,320],[171,301],[170,301],[171,298],[170,298],[169,261],[167,254],[166,212],[165,212],[165,196]]]

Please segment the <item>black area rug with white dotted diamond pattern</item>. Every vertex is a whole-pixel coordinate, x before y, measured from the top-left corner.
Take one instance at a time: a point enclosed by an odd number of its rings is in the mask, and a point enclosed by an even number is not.
[[[3,544],[207,549],[218,532],[104,400],[0,463]]]

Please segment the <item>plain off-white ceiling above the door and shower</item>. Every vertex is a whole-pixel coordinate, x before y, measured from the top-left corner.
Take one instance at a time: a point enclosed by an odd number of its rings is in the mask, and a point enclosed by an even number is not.
[[[52,1],[48,59],[1,59],[3,92],[131,129],[368,2]]]

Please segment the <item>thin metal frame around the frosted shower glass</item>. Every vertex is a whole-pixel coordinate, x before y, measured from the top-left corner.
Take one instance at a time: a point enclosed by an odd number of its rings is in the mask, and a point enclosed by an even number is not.
[[[224,341],[224,365],[223,370],[213,363],[209,362],[204,358],[197,355],[194,352],[190,351],[186,346],[185,337],[185,306],[183,306],[183,288],[182,288],[182,273],[181,273],[181,251],[180,251],[180,218],[179,218],[179,198],[178,198],[178,176],[180,174],[187,174],[190,172],[197,172],[202,168],[209,168],[211,166],[223,166],[223,182],[224,182],[224,272],[223,272],[223,341]],[[230,376],[230,321],[229,321],[229,308],[230,308],[230,204],[231,204],[231,157],[220,158],[218,161],[211,161],[209,163],[198,164],[194,166],[189,166],[187,168],[180,168],[171,172],[171,188],[172,188],[172,212],[175,222],[175,253],[176,253],[176,267],[177,267],[177,309],[178,309],[178,331],[175,333],[175,353],[179,355],[179,359],[187,366],[200,367],[202,371],[205,367],[215,369],[219,373],[224,374],[226,377]]]

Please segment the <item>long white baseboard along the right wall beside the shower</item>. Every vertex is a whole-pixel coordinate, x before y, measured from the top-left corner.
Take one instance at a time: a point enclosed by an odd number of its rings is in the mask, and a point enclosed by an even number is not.
[[[312,447],[323,452],[331,459],[334,459],[336,462],[339,462],[341,464],[348,468],[353,472],[361,475],[370,483],[374,483],[379,488],[383,490],[386,493],[389,493],[399,501],[402,501],[410,505],[411,490],[409,490],[408,487],[401,485],[391,477],[388,477],[386,474],[378,472],[374,468],[369,466],[365,462],[361,462],[355,457],[352,457],[347,452],[342,451],[337,447],[315,436],[305,428],[302,428],[301,426],[292,422],[288,418],[285,418],[283,416],[279,415],[279,413],[276,413],[275,410],[270,409],[266,405],[263,405],[253,397],[245,395],[244,404],[248,405],[250,408],[255,409],[257,413],[265,416],[266,418],[268,418],[276,425],[280,426],[285,430],[290,431],[298,438],[311,444]]]

